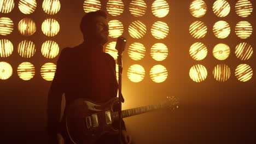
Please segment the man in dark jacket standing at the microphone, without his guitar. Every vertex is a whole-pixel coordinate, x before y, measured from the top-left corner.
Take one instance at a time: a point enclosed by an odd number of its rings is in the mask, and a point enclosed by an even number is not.
[[[103,45],[108,41],[106,18],[106,13],[101,10],[85,14],[80,23],[84,43],[67,47],[60,53],[47,105],[46,132],[54,143],[72,143],[66,133],[65,120],[60,118],[63,93],[66,107],[77,98],[105,103],[117,97],[115,61],[103,52]],[[65,112],[66,109],[64,116]],[[122,134],[124,142],[131,143],[124,121]],[[118,143],[118,134],[105,134],[96,143]]]

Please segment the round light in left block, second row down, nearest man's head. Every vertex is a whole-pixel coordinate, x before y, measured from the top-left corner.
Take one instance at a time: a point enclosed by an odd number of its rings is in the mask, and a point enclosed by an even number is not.
[[[42,23],[42,32],[48,37],[54,37],[59,31],[60,25],[55,19],[46,19]]]

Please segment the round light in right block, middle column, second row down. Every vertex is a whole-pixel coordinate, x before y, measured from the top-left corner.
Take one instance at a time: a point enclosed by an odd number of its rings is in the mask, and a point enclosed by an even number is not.
[[[224,39],[230,34],[229,23],[225,21],[218,21],[213,26],[213,33],[219,39]]]

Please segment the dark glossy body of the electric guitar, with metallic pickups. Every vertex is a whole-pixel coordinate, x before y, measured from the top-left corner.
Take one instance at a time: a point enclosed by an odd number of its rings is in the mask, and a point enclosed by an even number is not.
[[[104,104],[88,99],[76,99],[66,109],[66,130],[69,139],[77,144],[92,144],[104,133],[118,133],[113,127],[113,106],[118,98]]]

